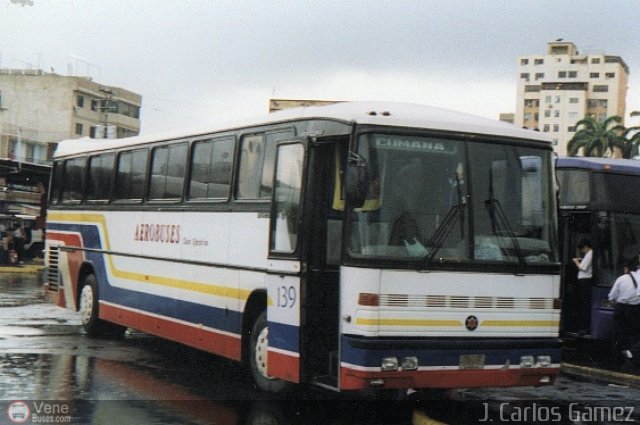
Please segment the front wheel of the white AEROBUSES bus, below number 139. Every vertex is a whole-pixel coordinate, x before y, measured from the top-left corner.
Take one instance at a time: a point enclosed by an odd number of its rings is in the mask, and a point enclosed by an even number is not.
[[[286,392],[293,387],[293,384],[267,374],[268,335],[267,312],[263,311],[253,324],[251,338],[249,339],[249,368],[251,378],[262,391],[269,393]]]

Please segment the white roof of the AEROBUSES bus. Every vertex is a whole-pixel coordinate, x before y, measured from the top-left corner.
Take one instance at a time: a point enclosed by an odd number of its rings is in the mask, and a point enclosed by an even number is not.
[[[285,109],[224,126],[217,126],[215,128],[191,128],[177,132],[149,134],[125,139],[90,139],[83,137],[80,139],[64,140],[58,144],[55,156],[74,155],[154,141],[232,131],[249,126],[270,125],[309,119],[328,119],[344,123],[414,127],[467,134],[496,135],[514,139],[536,140],[551,144],[551,139],[544,133],[522,129],[513,124],[498,120],[491,120],[442,108],[396,102],[338,102],[326,106]]]

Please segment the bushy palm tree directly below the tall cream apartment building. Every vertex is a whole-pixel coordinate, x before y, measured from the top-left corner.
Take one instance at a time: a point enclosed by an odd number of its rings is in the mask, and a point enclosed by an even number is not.
[[[620,131],[624,129],[618,115],[600,122],[592,116],[586,116],[576,123],[580,128],[567,144],[569,156],[576,156],[582,149],[584,156],[615,155],[620,149]]]

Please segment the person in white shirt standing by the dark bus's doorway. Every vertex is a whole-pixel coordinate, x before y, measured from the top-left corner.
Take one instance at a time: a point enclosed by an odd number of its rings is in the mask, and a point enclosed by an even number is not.
[[[573,263],[578,268],[578,281],[575,286],[576,329],[578,333],[586,334],[591,329],[591,285],[593,282],[593,250],[591,242],[582,239],[578,242],[578,249],[582,258],[574,258]]]

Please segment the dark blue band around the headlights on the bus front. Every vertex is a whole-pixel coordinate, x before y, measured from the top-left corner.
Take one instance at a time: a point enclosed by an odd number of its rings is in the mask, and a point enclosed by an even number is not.
[[[491,349],[362,349],[350,344],[348,335],[342,336],[342,356],[340,360],[361,367],[380,367],[383,357],[417,357],[420,366],[458,366],[463,354],[482,354],[486,365],[519,365],[521,356],[550,356],[552,363],[560,363],[560,348],[511,348]]]

